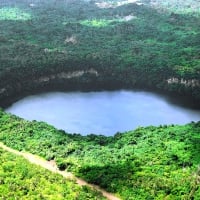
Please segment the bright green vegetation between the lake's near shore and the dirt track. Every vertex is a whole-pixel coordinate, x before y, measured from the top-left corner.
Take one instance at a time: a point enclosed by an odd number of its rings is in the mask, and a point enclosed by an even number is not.
[[[0,113],[0,141],[7,146],[55,160],[122,199],[198,200],[199,133],[198,122],[81,136]]]

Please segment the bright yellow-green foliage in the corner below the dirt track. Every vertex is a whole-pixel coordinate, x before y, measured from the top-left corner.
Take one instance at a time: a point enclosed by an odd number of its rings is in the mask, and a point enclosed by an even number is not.
[[[104,199],[88,187],[75,182],[0,148],[0,199]]]

